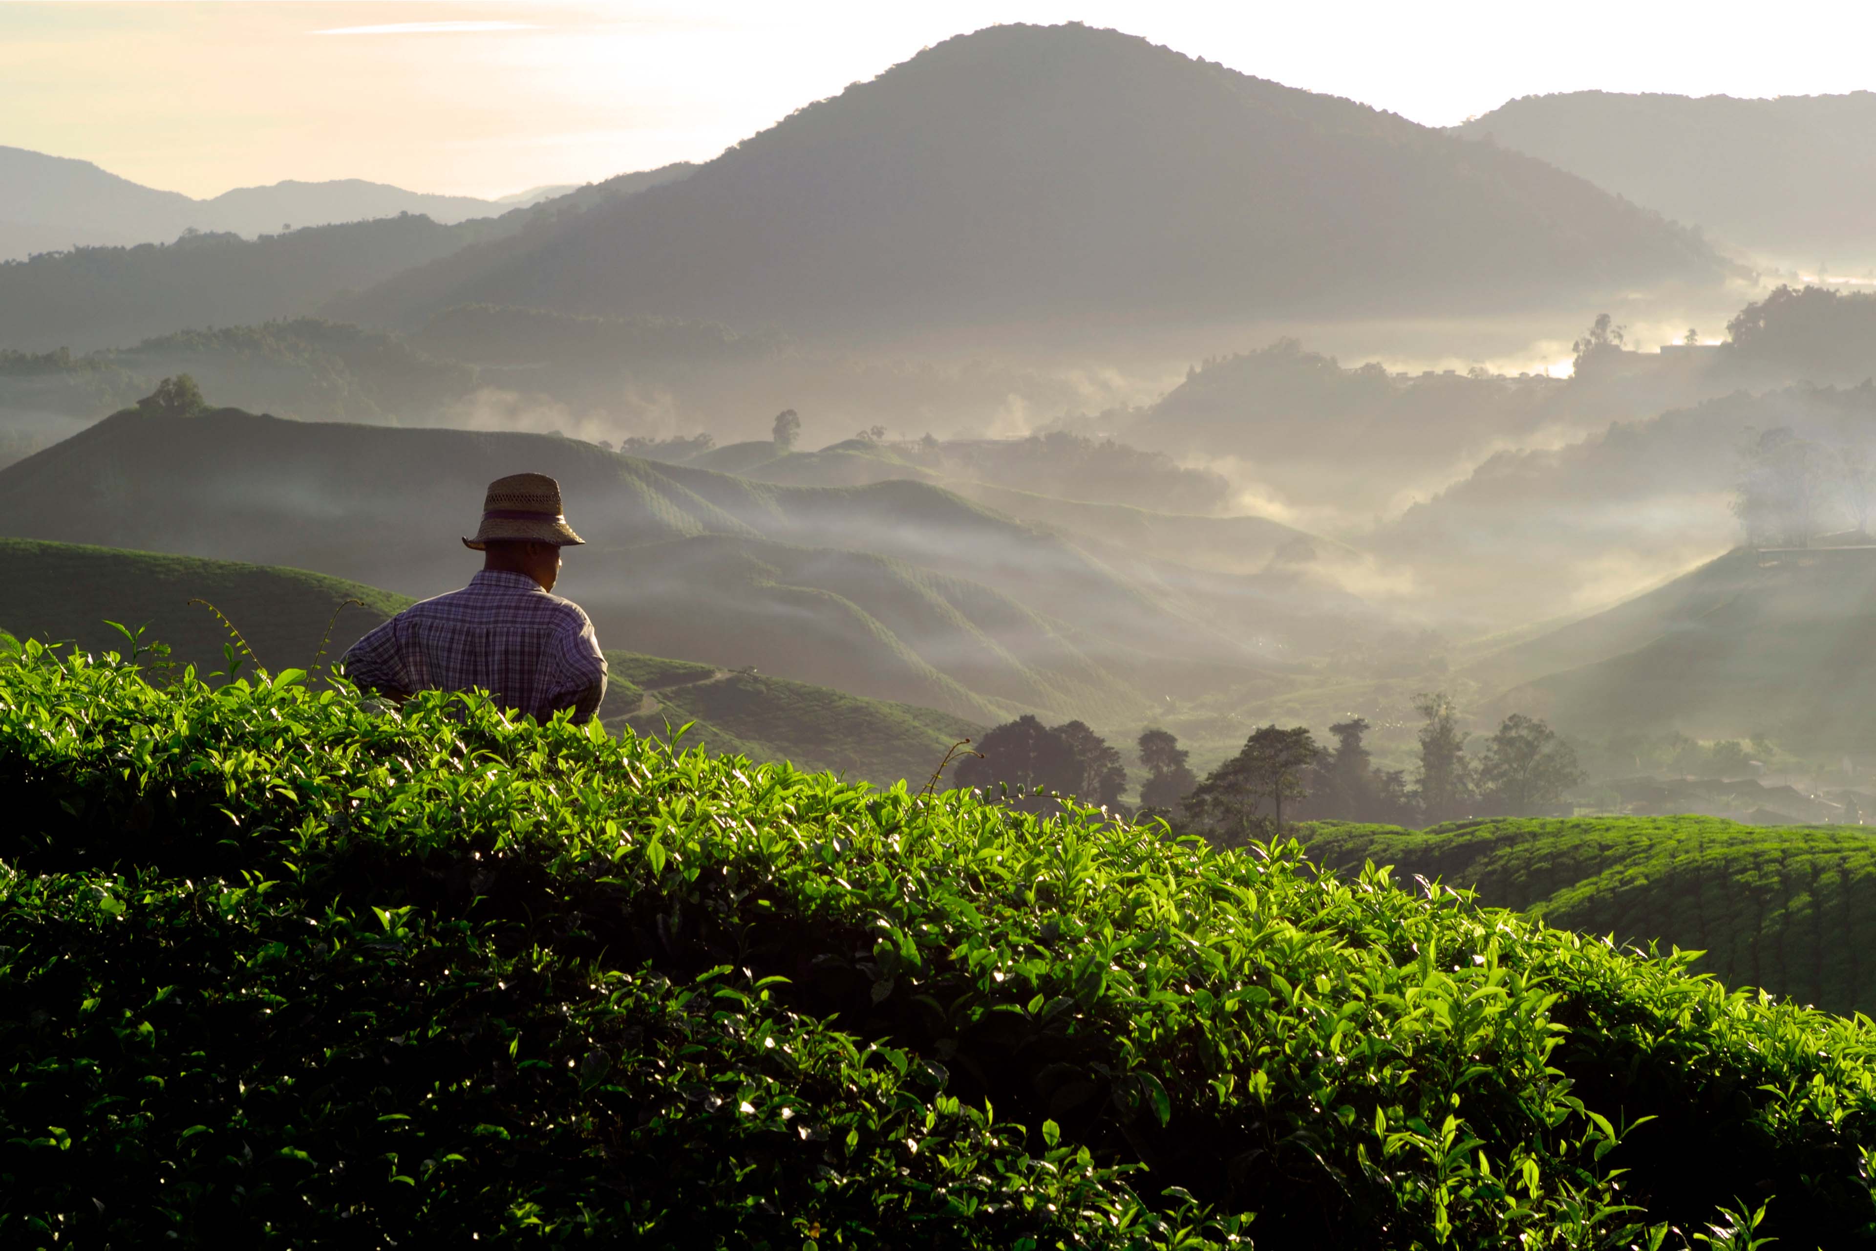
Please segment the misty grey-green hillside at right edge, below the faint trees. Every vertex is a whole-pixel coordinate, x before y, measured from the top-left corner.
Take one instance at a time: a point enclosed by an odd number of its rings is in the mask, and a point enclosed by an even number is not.
[[[1872,630],[1876,548],[1741,548],[1512,647],[1499,660],[1512,673],[1555,668],[1501,703],[1576,731],[1773,733],[1799,750],[1865,752],[1876,746]]]

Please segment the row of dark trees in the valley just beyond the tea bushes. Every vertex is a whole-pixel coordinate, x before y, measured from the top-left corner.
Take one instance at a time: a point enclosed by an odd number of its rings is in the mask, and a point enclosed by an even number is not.
[[[1422,724],[1413,784],[1403,769],[1375,767],[1362,716],[1328,728],[1334,746],[1317,743],[1306,726],[1264,726],[1204,778],[1188,767],[1188,752],[1171,731],[1148,728],[1137,743],[1146,767],[1137,816],[1161,816],[1174,829],[1236,846],[1298,820],[1435,825],[1546,814],[1585,780],[1576,750],[1542,720],[1512,713],[1475,758],[1445,692],[1418,696],[1415,709]],[[983,735],[955,780],[1007,793],[1030,812],[1052,812],[1058,795],[1118,808],[1127,771],[1120,752],[1086,724],[1049,728],[1022,716]]]

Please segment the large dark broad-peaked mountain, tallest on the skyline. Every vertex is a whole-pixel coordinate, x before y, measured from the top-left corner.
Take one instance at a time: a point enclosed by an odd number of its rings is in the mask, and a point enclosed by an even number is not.
[[[994,26],[574,229],[332,306],[465,302],[870,330],[1501,308],[1728,266],[1508,150],[1111,30]]]

